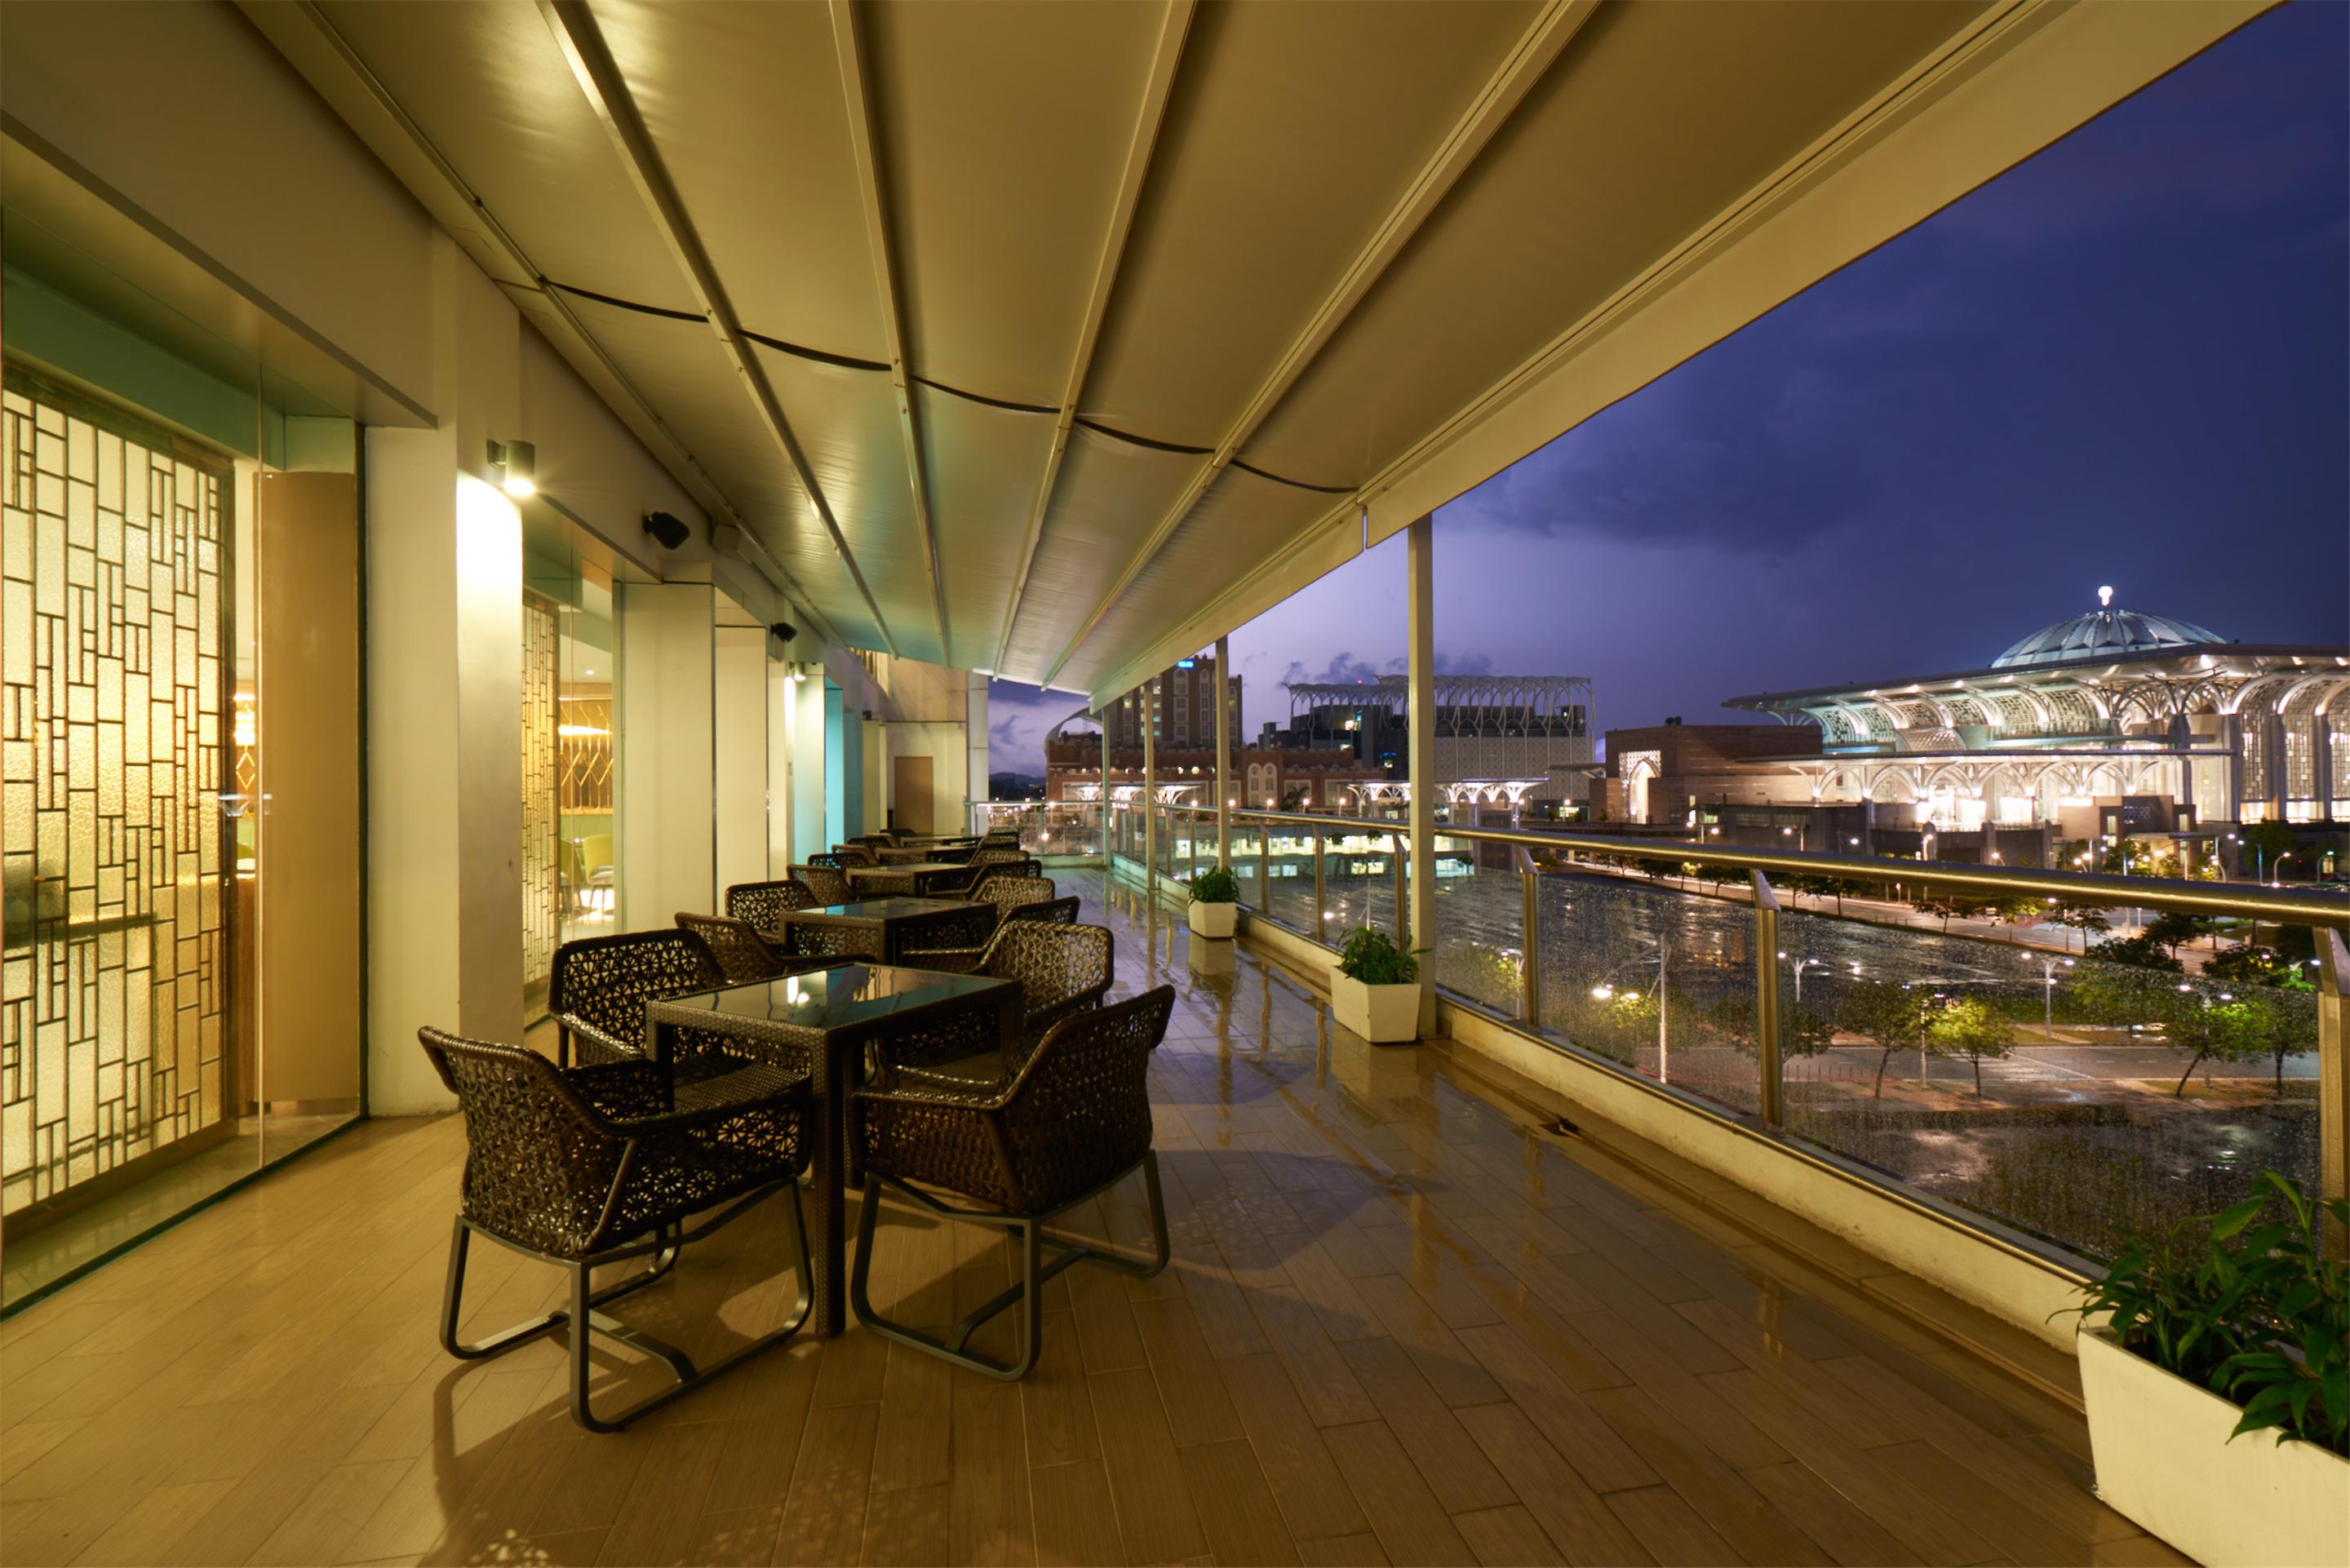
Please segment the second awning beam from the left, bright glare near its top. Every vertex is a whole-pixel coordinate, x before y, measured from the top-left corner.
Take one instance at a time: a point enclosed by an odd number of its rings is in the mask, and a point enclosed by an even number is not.
[[[620,165],[637,186],[637,195],[642,195],[644,205],[651,209],[653,228],[660,230],[663,242],[670,247],[670,256],[677,259],[679,270],[684,270],[686,282],[693,287],[693,299],[700,306],[703,317],[710,322],[710,329],[717,334],[719,348],[724,348],[726,357],[733,362],[736,376],[743,381],[743,390],[759,411],[759,421],[776,440],[776,447],[783,449],[785,461],[792,465],[792,475],[799,477],[799,487],[808,494],[808,505],[813,505],[815,515],[825,522],[825,531],[832,536],[832,548],[839,552],[841,567],[848,569],[848,581],[858,585],[858,595],[865,597],[865,609],[874,618],[874,630],[881,632],[881,644],[893,658],[898,658],[898,639],[891,637],[888,621],[881,616],[881,604],[874,599],[872,588],[865,585],[865,574],[858,571],[858,557],[848,550],[848,538],[841,534],[841,524],[832,517],[832,503],[825,501],[825,489],[815,482],[815,470],[808,465],[808,456],[799,449],[799,437],[792,435],[792,425],[783,416],[776,388],[768,386],[766,369],[759,364],[757,350],[743,334],[743,322],[733,313],[733,301],[726,299],[726,284],[719,282],[717,266],[710,261],[710,252],[703,249],[703,240],[693,230],[693,219],[686,216],[684,197],[679,197],[677,186],[670,183],[670,172],[660,162],[653,134],[644,127],[644,115],[637,113],[637,99],[620,78],[620,66],[613,63],[611,49],[604,47],[604,33],[597,28],[585,0],[538,0],[538,14],[545,16],[548,28],[555,33],[555,42],[564,52],[564,61],[571,66],[573,80],[588,96],[588,106],[595,108],[597,120],[604,122],[613,146],[620,150]]]

